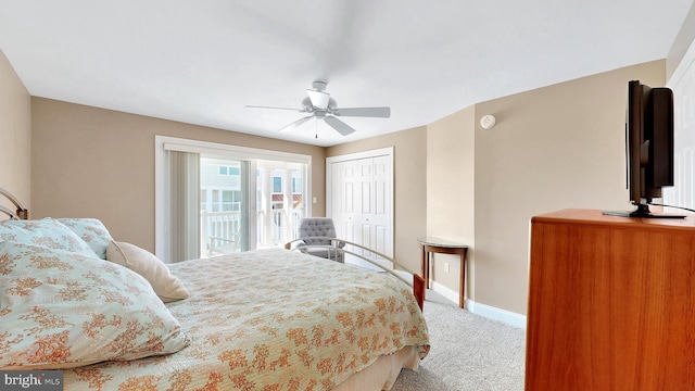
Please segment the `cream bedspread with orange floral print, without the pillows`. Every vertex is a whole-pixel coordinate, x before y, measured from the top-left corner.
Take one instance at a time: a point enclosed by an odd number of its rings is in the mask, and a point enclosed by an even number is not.
[[[407,285],[273,249],[169,265],[191,292],[167,304],[191,344],[65,370],[65,390],[330,390],[403,346],[429,351]]]

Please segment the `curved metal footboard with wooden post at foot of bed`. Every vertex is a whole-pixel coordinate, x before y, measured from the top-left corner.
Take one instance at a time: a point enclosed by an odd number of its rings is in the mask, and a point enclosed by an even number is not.
[[[304,241],[305,239],[307,239],[308,242],[330,241],[331,244],[306,244],[306,242]],[[349,247],[351,250],[345,250],[344,247]],[[333,255],[334,257],[332,258],[333,261],[338,261],[339,258],[338,254],[341,254],[343,260],[345,254],[356,256],[359,260],[366,261],[371,265],[379,267],[380,269],[393,275],[395,278],[410,286],[413,288],[413,295],[415,295],[417,305],[420,307],[420,310],[422,310],[422,305],[425,304],[425,279],[422,278],[422,276],[418,275],[417,273],[413,273],[407,267],[401,265],[393,257],[389,255],[382,254],[378,251],[374,251],[372,249],[366,248],[359,243],[351,242],[343,239],[336,239],[331,237],[309,237],[309,238],[303,238],[303,239],[294,239],[292,241],[285,243],[285,249],[298,250],[298,251],[303,251],[308,249],[326,249],[328,254],[334,254]],[[359,251],[361,253],[357,253],[356,251]],[[377,255],[379,258],[383,258],[392,263],[394,268],[386,267],[381,263],[375,262],[374,260],[364,256],[363,255],[364,252],[372,253]],[[404,270],[404,272],[407,272],[408,274],[412,274],[413,280],[409,281],[405,277],[403,277],[402,274],[399,274],[399,270]]]

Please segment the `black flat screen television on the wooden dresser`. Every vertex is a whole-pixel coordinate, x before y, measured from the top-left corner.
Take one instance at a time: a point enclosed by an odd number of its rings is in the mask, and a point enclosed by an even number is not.
[[[673,186],[673,91],[650,88],[639,80],[628,83],[626,114],[627,187],[631,212],[604,212],[626,217],[674,217],[652,213],[649,203],[661,198],[661,189]]]

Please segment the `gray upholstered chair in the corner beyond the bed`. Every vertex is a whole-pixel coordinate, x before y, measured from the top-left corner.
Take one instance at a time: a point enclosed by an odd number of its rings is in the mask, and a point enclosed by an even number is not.
[[[309,239],[316,237],[321,237],[321,239]],[[311,255],[344,263],[341,249],[345,243],[329,238],[336,238],[336,226],[332,218],[302,218],[298,232],[298,239],[302,239],[302,242],[299,243],[296,249]]]

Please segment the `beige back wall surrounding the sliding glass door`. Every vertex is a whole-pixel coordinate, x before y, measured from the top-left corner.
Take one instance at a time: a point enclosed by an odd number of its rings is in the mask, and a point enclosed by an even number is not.
[[[313,213],[325,211],[325,149],[141,115],[31,99],[31,211],[97,217],[118,240],[154,251],[154,136],[312,155]]]

